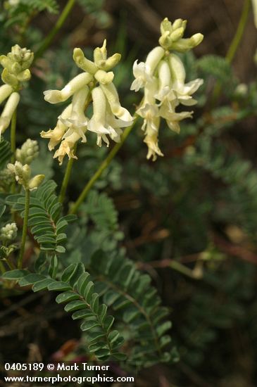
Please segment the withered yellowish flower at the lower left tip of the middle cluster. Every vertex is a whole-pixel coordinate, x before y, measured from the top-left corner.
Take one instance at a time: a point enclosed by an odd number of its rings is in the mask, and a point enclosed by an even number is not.
[[[52,151],[56,147],[56,145],[61,142],[63,135],[68,129],[68,126],[63,124],[62,120],[65,120],[70,117],[72,109],[73,105],[72,103],[70,103],[70,105],[68,105],[67,108],[63,110],[63,113],[59,115],[56,127],[54,129],[49,129],[47,132],[42,131],[40,133],[40,136],[43,139],[50,139],[48,144],[49,151]]]

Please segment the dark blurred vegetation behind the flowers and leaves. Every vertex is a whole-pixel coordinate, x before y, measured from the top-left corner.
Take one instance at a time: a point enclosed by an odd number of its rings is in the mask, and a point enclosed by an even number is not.
[[[37,51],[66,2],[38,1],[43,3],[40,9],[36,0],[20,0],[15,7],[11,1],[1,1],[0,53],[7,53],[15,43]],[[244,35],[230,64],[225,55],[247,4]],[[253,387],[257,380],[257,42],[250,2],[77,0],[32,68],[18,110],[18,144],[27,137],[37,139],[41,153],[33,165],[35,172],[61,182],[65,165],[58,166],[39,137],[39,132],[54,127],[60,112],[44,101],[42,91],[60,89],[76,75],[74,47],[91,56],[92,49],[107,38],[108,52],[122,53],[115,84],[123,105],[133,113],[131,106],[141,96],[129,91],[132,63],[137,58],[144,61],[158,44],[165,17],[187,19],[188,36],[196,32],[205,36],[194,54],[182,56],[187,79],[205,80],[196,96],[194,119],[182,122],[180,135],[161,127],[165,157],[155,163],[146,160],[140,125],[133,129],[82,206],[81,228],[70,231],[70,240],[80,247],[69,250],[68,244],[65,259],[82,254],[83,248],[92,254],[96,242],[109,253],[117,247],[125,249],[137,267],[151,275],[170,308],[180,362],[143,370],[134,386]],[[70,201],[108,150],[89,139],[78,153],[68,189]],[[90,201],[96,213],[90,213]],[[107,225],[97,213],[105,214]],[[118,217],[117,227],[113,214]],[[72,354],[80,343],[79,329],[54,303],[54,296],[27,293],[11,298],[3,293],[1,306],[3,359],[15,351],[15,360],[49,360],[58,351]]]

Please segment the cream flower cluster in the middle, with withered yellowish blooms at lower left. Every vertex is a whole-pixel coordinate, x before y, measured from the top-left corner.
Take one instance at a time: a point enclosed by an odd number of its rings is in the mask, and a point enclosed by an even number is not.
[[[81,139],[87,141],[86,132],[96,134],[96,144],[102,141],[109,145],[110,137],[113,141],[120,141],[123,127],[132,124],[132,116],[127,109],[120,106],[118,92],[113,84],[114,74],[110,70],[120,61],[120,54],[115,53],[107,57],[106,40],[102,47],[94,50],[94,61],[85,58],[81,49],[74,49],[73,59],[84,72],[80,73],[61,90],[44,91],[44,99],[49,103],[67,101],[72,96],[72,102],[58,117],[56,127],[41,136],[49,139],[49,150],[60,144],[54,153],[60,164],[63,158],[77,158],[75,144]],[[97,85],[98,84],[98,85]],[[92,118],[87,118],[85,109],[93,101]]]

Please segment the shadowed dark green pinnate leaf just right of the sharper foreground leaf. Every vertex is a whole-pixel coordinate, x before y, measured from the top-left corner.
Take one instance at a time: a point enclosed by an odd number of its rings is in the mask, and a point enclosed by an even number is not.
[[[161,307],[161,298],[151,286],[151,277],[140,273],[131,260],[97,252],[92,256],[90,270],[101,288],[104,302],[112,307],[129,329],[132,343],[130,362],[137,367],[149,367],[156,362],[177,360],[170,352],[170,336],[166,333],[171,323],[169,311]]]

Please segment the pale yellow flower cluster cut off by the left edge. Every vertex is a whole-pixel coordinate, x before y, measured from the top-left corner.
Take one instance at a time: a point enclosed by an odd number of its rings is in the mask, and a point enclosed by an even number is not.
[[[21,49],[18,44],[12,47],[7,56],[0,56],[0,64],[4,68],[1,73],[4,85],[0,87],[0,103],[8,99],[0,116],[0,139],[1,134],[10,125],[13,113],[20,101],[18,91],[21,89],[22,83],[30,80],[29,67],[33,58],[34,55],[30,50]]]

